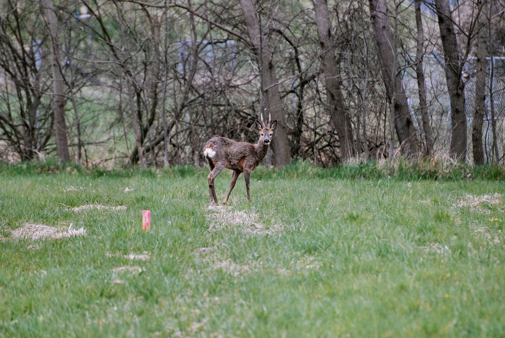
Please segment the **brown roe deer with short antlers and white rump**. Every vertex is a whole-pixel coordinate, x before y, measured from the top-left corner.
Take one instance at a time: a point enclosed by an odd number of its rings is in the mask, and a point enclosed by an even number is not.
[[[205,143],[204,156],[209,162],[211,170],[207,181],[209,182],[210,203],[218,204],[214,179],[224,169],[233,170],[230,189],[226,195],[224,204],[228,204],[231,190],[235,187],[237,178],[244,173],[245,188],[247,190],[247,201],[250,202],[249,175],[255,170],[263,160],[268,151],[268,146],[272,142],[272,132],[277,127],[277,121],[272,121],[268,114],[268,122],[263,121],[263,114],[260,114],[261,122],[255,120],[255,125],[260,132],[260,139],[257,143],[238,142],[226,137],[213,137]]]

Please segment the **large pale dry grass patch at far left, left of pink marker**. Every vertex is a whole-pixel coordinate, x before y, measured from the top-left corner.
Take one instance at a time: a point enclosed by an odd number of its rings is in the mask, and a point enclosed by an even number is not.
[[[26,223],[23,227],[11,231],[11,236],[6,239],[61,239],[72,236],[83,236],[86,229],[73,229],[72,225],[68,229],[48,226],[45,224]],[[5,239],[4,239],[5,240]]]

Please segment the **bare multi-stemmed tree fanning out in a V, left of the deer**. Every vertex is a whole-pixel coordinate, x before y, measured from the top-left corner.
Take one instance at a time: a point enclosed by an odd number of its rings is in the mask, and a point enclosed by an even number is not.
[[[89,5],[86,6],[98,22],[99,29],[94,30],[98,43],[106,46],[109,52],[107,55],[111,60],[111,78],[117,83],[113,90],[124,99],[124,103],[123,100],[119,103],[120,120],[126,115],[131,121],[128,125],[133,129],[135,147],[129,153],[129,161],[144,167],[148,161],[146,155],[150,153],[151,161],[156,163],[157,146],[168,139],[167,134],[187,107],[188,93],[195,72],[195,68],[191,67],[189,79],[180,90],[183,99],[174,109],[173,117],[167,121],[164,115],[162,126],[156,125],[160,110],[166,113],[166,86],[169,79],[163,77],[168,71],[167,62],[173,59],[168,47],[160,49],[161,25],[166,23],[161,19],[166,15],[168,4],[151,8],[149,4],[131,4],[118,0],[114,2],[115,16],[110,16],[106,10],[99,7],[93,11]],[[119,34],[113,34],[114,27],[107,23],[111,19],[117,23]],[[191,29],[194,30],[194,23],[190,21]],[[170,32],[165,34],[169,35]],[[194,53],[192,65],[196,63]],[[160,88],[161,85],[163,88]],[[160,106],[163,106],[163,109],[160,109]],[[125,131],[125,134],[127,133],[128,130]]]

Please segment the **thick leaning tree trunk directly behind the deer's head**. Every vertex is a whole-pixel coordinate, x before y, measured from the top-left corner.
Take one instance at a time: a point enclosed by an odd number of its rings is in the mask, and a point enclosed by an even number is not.
[[[275,139],[272,142],[274,165],[283,167],[291,162],[291,149],[287,137],[287,126],[282,101],[279,93],[279,82],[272,60],[272,51],[266,39],[263,39],[260,20],[256,15],[256,8],[252,0],[240,0],[240,7],[244,16],[244,23],[249,36],[249,43],[254,50],[258,64],[262,90],[265,98],[266,115],[271,114],[272,120],[277,120]]]

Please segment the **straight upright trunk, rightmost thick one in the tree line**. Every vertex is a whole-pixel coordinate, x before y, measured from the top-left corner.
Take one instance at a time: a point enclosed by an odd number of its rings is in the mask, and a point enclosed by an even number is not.
[[[485,3],[486,0],[483,2]],[[482,6],[482,1],[478,2],[478,6]],[[479,4],[480,3],[480,4]],[[478,18],[477,42],[475,44],[475,54],[477,61],[475,65],[476,80],[475,80],[475,109],[472,123],[472,150],[473,160],[476,165],[484,164],[484,144],[482,142],[482,126],[484,116],[486,114],[486,51],[487,41],[486,32],[484,30],[485,22],[484,15],[480,12]]]

